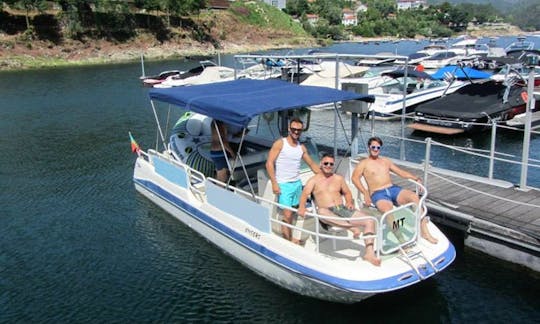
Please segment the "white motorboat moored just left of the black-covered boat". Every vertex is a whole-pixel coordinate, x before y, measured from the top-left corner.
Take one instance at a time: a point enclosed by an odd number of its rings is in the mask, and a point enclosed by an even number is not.
[[[369,89],[369,94],[376,99],[369,113],[379,120],[399,119],[403,109],[406,115],[412,114],[417,105],[450,94],[467,83],[458,79],[436,79],[415,68],[398,68],[381,76],[386,81]]]

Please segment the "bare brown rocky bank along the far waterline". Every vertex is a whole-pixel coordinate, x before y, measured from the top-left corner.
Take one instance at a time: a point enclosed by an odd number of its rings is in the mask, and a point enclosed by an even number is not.
[[[523,32],[510,25],[491,28],[469,28],[473,37],[520,35]],[[144,55],[147,60],[174,57],[248,53],[279,48],[315,47],[319,44],[309,36],[296,36],[283,31],[265,30],[253,26],[236,26],[227,31],[226,39],[220,39],[216,46],[210,42],[201,43],[190,37],[174,37],[160,42],[148,33],[138,33],[137,37],[125,42],[104,39],[71,40],[60,43],[46,40],[24,39],[22,35],[0,33],[0,70],[23,70],[68,65],[105,64],[129,62]],[[363,38],[351,41],[392,39],[390,37]]]

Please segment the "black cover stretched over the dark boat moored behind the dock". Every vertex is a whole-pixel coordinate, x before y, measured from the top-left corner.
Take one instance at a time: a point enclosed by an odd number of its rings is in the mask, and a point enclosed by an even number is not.
[[[447,96],[421,104],[415,111],[424,115],[466,120],[484,118],[486,114],[491,116],[525,104],[521,95],[527,91],[525,88],[512,87],[506,103],[503,103],[504,91],[505,86],[500,82],[471,83]]]

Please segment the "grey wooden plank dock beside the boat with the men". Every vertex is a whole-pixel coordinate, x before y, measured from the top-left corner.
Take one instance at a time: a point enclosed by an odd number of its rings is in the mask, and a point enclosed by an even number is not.
[[[402,179],[395,182],[405,184]],[[463,230],[466,245],[540,271],[539,190],[436,168],[430,169],[425,185],[429,215]]]

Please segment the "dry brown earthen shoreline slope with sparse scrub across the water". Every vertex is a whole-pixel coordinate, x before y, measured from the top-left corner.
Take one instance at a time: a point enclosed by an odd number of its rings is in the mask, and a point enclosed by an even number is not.
[[[191,56],[239,54],[272,49],[319,47],[331,44],[305,32],[254,26],[244,23],[226,11],[209,12],[193,19],[196,26],[169,28],[168,38],[159,40],[155,34],[143,29],[127,40],[82,37],[59,40],[40,39],[26,32],[7,34],[0,30],[0,71],[53,68],[62,66],[97,65],[158,61]],[[202,27],[201,27],[202,26]],[[206,37],[193,37],[194,28],[204,28]],[[512,25],[468,28],[472,37],[518,36],[524,32]],[[397,37],[353,37],[343,42],[393,41]],[[422,40],[424,37],[417,36]]]

